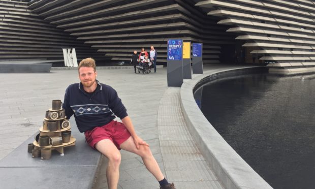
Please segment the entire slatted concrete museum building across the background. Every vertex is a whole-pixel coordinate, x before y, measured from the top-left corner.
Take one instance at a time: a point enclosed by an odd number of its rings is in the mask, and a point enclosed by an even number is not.
[[[0,59],[129,61],[134,50],[159,52],[167,39],[203,43],[204,63],[261,63],[271,71],[315,70],[315,3],[308,0],[0,1]]]

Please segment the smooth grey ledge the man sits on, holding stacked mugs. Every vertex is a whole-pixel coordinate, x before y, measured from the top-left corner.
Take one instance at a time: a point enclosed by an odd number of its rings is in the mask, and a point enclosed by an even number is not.
[[[52,150],[51,159],[32,158],[27,153],[31,136],[0,161],[1,188],[92,188],[101,153],[85,143],[84,134],[70,119],[75,146],[65,147],[64,156]]]

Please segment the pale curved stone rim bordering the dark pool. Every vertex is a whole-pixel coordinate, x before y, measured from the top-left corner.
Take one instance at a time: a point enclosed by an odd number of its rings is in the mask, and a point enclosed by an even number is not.
[[[185,79],[180,89],[180,104],[188,130],[198,148],[225,188],[272,188],[213,128],[199,109],[193,95],[198,83],[265,67],[238,67],[205,71]]]

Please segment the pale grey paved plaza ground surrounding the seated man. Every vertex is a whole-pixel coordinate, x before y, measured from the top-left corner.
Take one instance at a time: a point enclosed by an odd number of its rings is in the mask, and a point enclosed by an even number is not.
[[[79,81],[77,76],[75,70],[0,74],[0,160],[38,131],[51,100],[63,100],[66,87]],[[177,183],[177,188],[221,188],[187,133],[176,101],[179,88],[167,87],[165,68],[150,75],[134,74],[133,70],[99,70],[98,79],[118,91],[138,135],[149,143],[169,181]],[[165,113],[174,119],[166,121]],[[176,121],[180,124],[172,125]],[[121,153],[119,188],[159,187],[139,157]],[[107,160],[103,160],[94,188],[107,188]]]

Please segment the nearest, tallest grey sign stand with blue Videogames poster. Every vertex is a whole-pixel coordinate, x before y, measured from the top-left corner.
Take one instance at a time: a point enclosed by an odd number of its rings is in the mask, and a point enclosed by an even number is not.
[[[182,44],[181,39],[167,41],[167,86],[181,86],[184,81]]]

